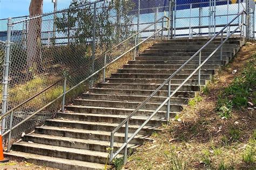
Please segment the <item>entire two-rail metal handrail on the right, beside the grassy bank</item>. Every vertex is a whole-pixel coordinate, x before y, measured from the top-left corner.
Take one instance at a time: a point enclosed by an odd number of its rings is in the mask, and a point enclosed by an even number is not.
[[[238,17],[240,17],[242,14],[246,13],[245,11],[241,11],[236,17],[234,17],[225,27],[223,27],[223,29],[221,29],[217,34],[215,34],[215,36],[213,36],[208,42],[206,42],[206,44],[201,47],[194,55],[191,56],[190,59],[188,59],[180,68],[178,68],[169,78],[167,78],[156,90],[153,91],[153,93],[146,98],[146,100],[144,100],[144,102],[140,103],[140,105],[129,115],[127,116],[124,121],[122,123],[120,123],[112,132],[111,132],[111,138],[110,138],[110,160],[112,161],[119,153],[120,151],[122,151],[125,148],[124,151],[124,162],[126,161],[126,155],[127,155],[127,145],[128,143],[138,134],[138,132],[147,124],[147,122],[150,121],[150,119],[160,110],[161,107],[163,107],[167,102],[167,114],[166,114],[166,118],[169,119],[170,116],[170,99],[171,97],[176,94],[176,92],[197,72],[198,73],[198,84],[200,86],[200,68],[201,66],[204,65],[204,63],[211,58],[211,56],[217,52],[217,50],[220,48],[220,60],[222,60],[222,46],[224,44],[224,42],[227,41],[228,38],[230,38],[232,36],[232,34],[237,31],[240,27],[242,30],[242,26],[245,25],[243,23],[243,19],[241,21],[241,24],[238,25],[238,27],[236,29],[234,29],[233,32],[231,32],[230,34],[227,35],[226,39],[223,40],[223,32],[224,30],[231,25],[232,22],[234,22],[235,19],[237,19]],[[214,51],[203,61],[201,62],[201,51],[208,45],[210,44],[217,36],[219,36],[221,34],[221,43],[220,45],[214,49]],[[242,34],[242,31],[241,31]],[[171,79],[174,75],[176,75],[181,69],[183,69],[188,62],[190,62],[195,56],[197,56],[199,54],[199,66],[187,77],[187,79],[185,79],[183,81],[183,83],[180,84],[179,87],[176,88],[176,90],[173,91],[173,93],[171,94]],[[129,119],[134,116],[136,114],[137,111],[139,111],[161,88],[163,88],[165,86],[165,84],[168,83],[168,97],[166,98],[166,100],[160,104],[160,106],[149,116],[149,118],[146,119],[146,121],[139,126],[139,128],[132,133],[131,137],[129,137],[128,139],[128,130],[129,130]],[[123,125],[125,125],[125,142],[122,146],[119,147],[119,149],[113,153],[113,143],[114,143],[114,133],[116,133]]]

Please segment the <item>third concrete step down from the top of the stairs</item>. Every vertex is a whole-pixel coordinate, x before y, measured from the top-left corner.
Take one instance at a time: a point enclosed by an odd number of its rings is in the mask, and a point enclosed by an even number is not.
[[[215,49],[217,48],[219,45],[207,45],[206,48],[212,48]],[[149,49],[197,49],[199,50],[201,47],[203,47],[202,45],[189,45],[189,44],[182,44],[182,45],[176,45],[176,46],[151,46],[149,47]],[[223,49],[224,48],[239,48],[240,46],[237,44],[224,44],[223,45]]]

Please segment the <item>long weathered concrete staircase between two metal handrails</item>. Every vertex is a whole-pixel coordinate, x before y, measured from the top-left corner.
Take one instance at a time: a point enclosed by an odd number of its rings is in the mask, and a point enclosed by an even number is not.
[[[60,169],[103,169],[109,155],[106,148],[110,145],[110,132],[207,41],[180,39],[156,42],[137,56],[135,61],[129,61],[117,73],[113,73],[105,83],[97,84],[84,93],[82,98],[66,106],[64,113],[58,112],[56,118],[47,120],[44,126],[26,134],[5,155],[11,159]],[[204,49],[202,61],[219,45],[219,41],[220,39],[214,40]],[[243,43],[241,38],[230,38],[223,47],[223,60],[220,60],[217,52],[201,69],[201,86],[198,86],[198,76],[194,75],[172,97],[172,117],[183,110],[188,99],[194,97],[232,59]],[[198,57],[174,76],[171,90],[176,89],[197,66]],[[130,133],[138,129],[166,96],[167,85],[132,117],[129,122]],[[165,114],[166,107],[163,107],[132,140],[129,147],[136,148],[145,140],[151,140],[151,133],[159,132],[157,128],[166,122]],[[114,141],[117,142],[114,144],[116,151],[124,142],[124,127],[116,133]]]

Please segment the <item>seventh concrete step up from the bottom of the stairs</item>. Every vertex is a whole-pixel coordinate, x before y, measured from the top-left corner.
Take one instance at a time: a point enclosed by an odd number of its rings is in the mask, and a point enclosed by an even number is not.
[[[106,114],[106,115],[125,115],[128,116],[130,115],[133,111],[134,108],[106,108],[106,107],[93,107],[93,106],[81,106],[81,105],[66,105],[65,109],[67,111],[72,111],[72,112],[80,112],[80,113],[87,113],[87,114]],[[152,113],[155,111],[154,110],[145,110],[145,109],[140,109],[139,111],[136,112],[136,115],[134,116],[139,116],[139,117],[149,117],[152,115]],[[176,115],[177,112],[174,112],[171,110],[170,117],[173,117]],[[157,112],[157,114],[153,118],[165,118],[166,116],[166,111],[160,110]]]

